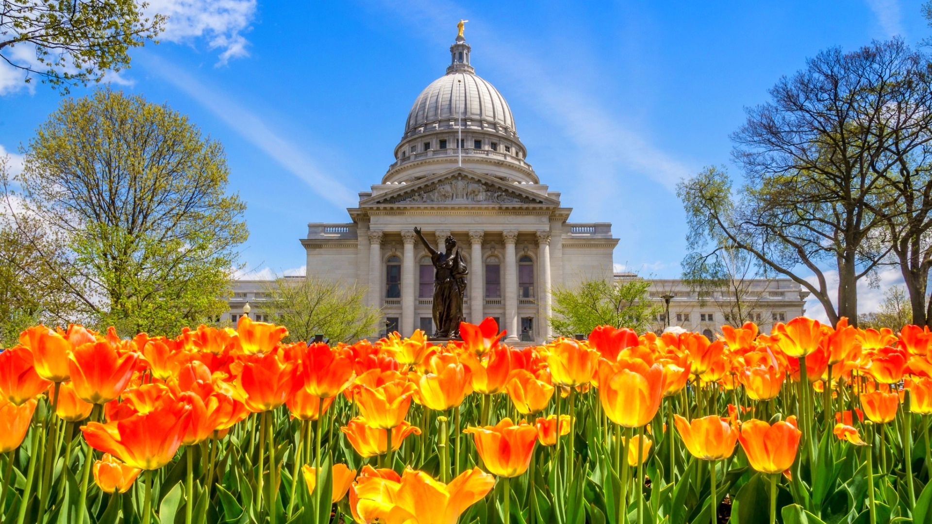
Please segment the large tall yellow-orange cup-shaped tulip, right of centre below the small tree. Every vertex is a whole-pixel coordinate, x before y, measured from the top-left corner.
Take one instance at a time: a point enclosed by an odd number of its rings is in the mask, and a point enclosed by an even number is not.
[[[598,363],[598,397],[612,422],[639,428],[653,419],[664,398],[664,368],[641,360]]]

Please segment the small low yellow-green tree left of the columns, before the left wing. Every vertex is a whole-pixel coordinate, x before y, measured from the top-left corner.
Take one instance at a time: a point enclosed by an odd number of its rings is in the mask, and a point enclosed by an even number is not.
[[[381,311],[365,303],[366,290],[320,277],[284,277],[269,283],[263,304],[270,321],[288,327],[291,340],[322,333],[332,343],[355,342],[377,333]]]

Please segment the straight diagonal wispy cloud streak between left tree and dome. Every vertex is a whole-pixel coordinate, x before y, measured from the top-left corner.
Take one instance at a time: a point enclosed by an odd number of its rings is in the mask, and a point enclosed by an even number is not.
[[[232,100],[223,90],[215,87],[207,88],[197,78],[188,75],[171,63],[155,56],[150,58],[148,62],[159,76],[198,101],[215,117],[220,118],[226,125],[237,131],[240,136],[263,150],[281,167],[307,183],[323,200],[329,201],[338,208],[356,204],[356,195],[349,190],[349,187],[324,172],[300,148],[283,138],[280,133],[273,131],[265,120]]]

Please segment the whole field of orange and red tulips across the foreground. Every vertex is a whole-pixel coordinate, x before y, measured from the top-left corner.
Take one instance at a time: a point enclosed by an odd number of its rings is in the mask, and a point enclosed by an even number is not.
[[[460,332],[31,327],[0,352],[0,522],[932,522],[927,327]]]

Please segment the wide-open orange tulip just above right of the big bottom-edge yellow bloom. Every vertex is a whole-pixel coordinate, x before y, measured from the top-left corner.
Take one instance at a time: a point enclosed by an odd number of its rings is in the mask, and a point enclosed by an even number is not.
[[[528,470],[531,452],[537,441],[537,429],[526,422],[515,425],[509,418],[494,426],[471,427],[475,448],[488,472],[496,476],[520,476]]]

